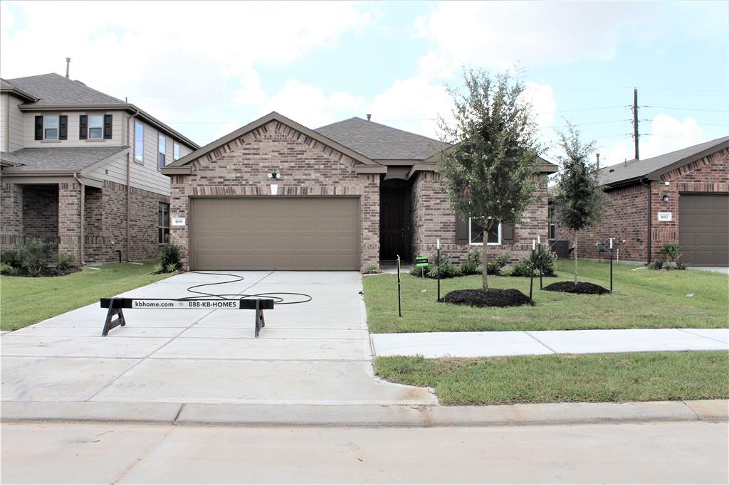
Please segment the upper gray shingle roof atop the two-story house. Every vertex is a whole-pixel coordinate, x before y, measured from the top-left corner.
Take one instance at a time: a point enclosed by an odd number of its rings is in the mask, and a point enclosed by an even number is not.
[[[4,79],[4,82],[39,98],[34,106],[127,104],[120,99],[55,73]]]

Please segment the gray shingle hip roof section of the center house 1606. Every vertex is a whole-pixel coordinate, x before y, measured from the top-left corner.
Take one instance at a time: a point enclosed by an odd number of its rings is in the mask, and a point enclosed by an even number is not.
[[[357,117],[314,131],[373,160],[424,160],[443,145],[423,135]]]

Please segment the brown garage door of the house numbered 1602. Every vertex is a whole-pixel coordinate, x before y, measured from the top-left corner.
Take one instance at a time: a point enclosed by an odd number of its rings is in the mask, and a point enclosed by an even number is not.
[[[691,266],[729,266],[729,195],[679,197],[679,245]]]

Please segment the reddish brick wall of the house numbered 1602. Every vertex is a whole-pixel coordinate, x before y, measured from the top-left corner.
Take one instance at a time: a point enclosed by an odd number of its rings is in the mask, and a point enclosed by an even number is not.
[[[668,182],[668,185],[666,185]],[[648,251],[648,197],[650,193],[650,253]],[[664,174],[660,181],[633,184],[607,191],[608,204],[601,224],[582,231],[577,253],[581,258],[599,258],[598,240],[615,239],[622,261],[655,261],[668,242],[679,243],[681,194],[729,193],[729,150],[720,150]],[[663,196],[668,201],[663,201]],[[659,212],[670,212],[671,221],[658,221]],[[572,241],[567,229],[558,227],[558,239]],[[604,256],[604,255],[603,255]]]

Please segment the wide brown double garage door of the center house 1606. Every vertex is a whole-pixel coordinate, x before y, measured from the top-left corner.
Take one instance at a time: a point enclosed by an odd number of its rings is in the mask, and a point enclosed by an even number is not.
[[[192,269],[359,269],[359,199],[190,200]]]

